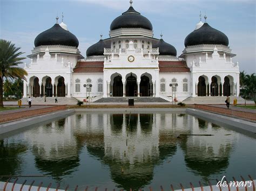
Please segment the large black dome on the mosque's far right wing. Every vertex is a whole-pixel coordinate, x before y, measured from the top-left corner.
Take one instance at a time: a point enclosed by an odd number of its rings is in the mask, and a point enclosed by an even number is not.
[[[184,42],[185,47],[202,44],[228,46],[228,38],[223,32],[213,29],[205,23],[199,29],[188,34]]]

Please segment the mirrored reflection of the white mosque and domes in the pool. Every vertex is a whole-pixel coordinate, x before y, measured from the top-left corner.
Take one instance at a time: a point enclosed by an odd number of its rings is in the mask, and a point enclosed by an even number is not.
[[[41,138],[41,133],[48,136]],[[178,139],[181,133],[215,136]],[[24,134],[36,143],[32,146],[36,167],[57,180],[75,171],[79,153],[86,145],[89,154],[109,166],[111,178],[119,187],[142,188],[153,180],[154,167],[176,154],[178,145],[192,172],[207,178],[223,171],[234,141],[234,137],[225,136],[228,133],[184,114],[82,113]]]

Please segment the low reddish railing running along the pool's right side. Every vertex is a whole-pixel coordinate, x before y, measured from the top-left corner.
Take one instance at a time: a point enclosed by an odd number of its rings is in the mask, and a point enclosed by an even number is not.
[[[212,105],[200,105],[200,104],[195,104],[194,108],[211,111],[216,114],[224,114],[232,117],[239,117],[239,118],[249,119],[251,121],[256,121],[256,114],[253,112],[238,111],[233,109],[220,108]]]

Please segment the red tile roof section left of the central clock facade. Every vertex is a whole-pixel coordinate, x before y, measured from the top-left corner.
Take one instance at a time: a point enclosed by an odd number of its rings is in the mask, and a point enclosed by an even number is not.
[[[74,73],[103,73],[104,61],[77,62]]]

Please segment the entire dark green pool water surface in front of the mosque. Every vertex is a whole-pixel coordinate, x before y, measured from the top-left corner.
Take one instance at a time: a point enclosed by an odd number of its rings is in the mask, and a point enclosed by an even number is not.
[[[18,183],[81,190],[255,178],[255,138],[187,114],[76,113],[1,136],[0,175],[42,175]]]

